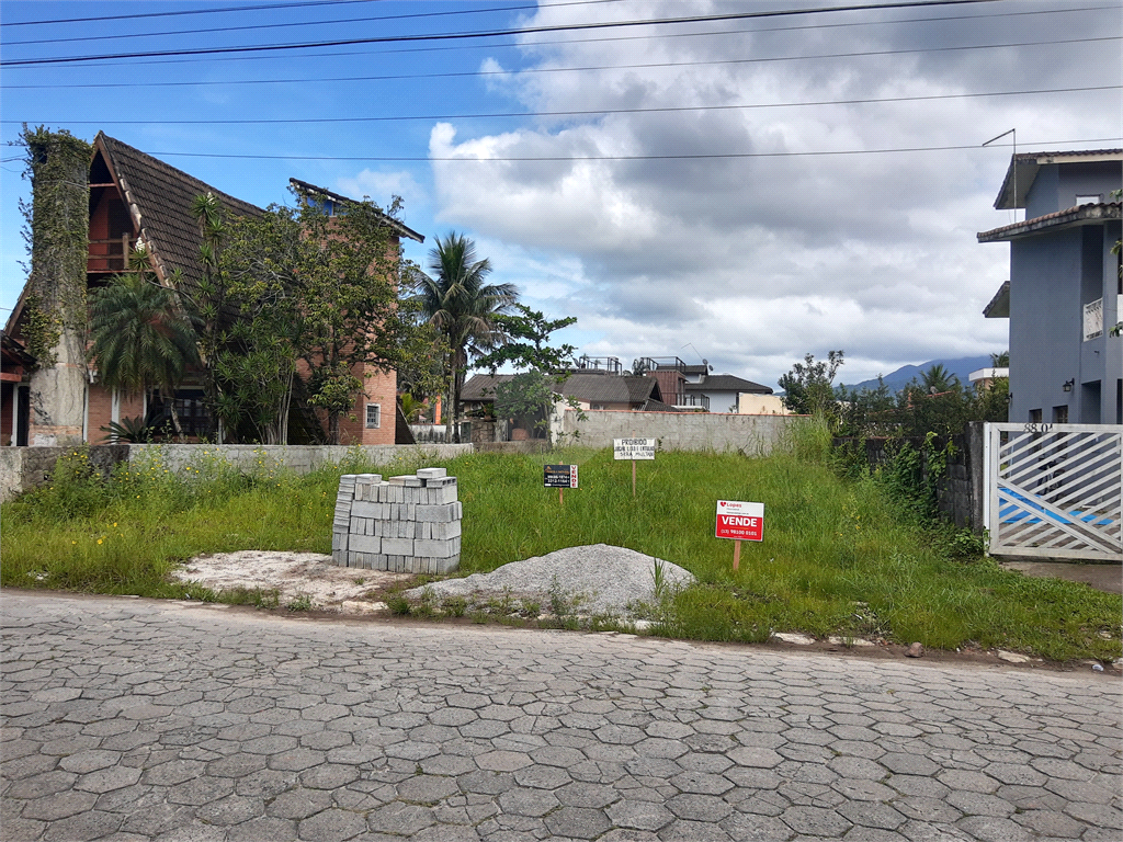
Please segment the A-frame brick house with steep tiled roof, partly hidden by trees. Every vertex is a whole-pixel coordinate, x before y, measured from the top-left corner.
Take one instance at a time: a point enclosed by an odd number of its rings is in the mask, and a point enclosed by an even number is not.
[[[341,211],[346,196],[295,182],[305,201],[314,201],[329,213]],[[89,170],[90,223],[89,257],[86,262],[86,287],[95,289],[108,283],[115,274],[127,268],[130,250],[143,242],[153,268],[161,282],[170,283],[177,271],[184,284],[192,284],[202,277],[199,258],[201,235],[199,223],[192,213],[193,200],[212,193],[221,202],[223,210],[235,217],[263,213],[249,202],[216,190],[209,184],[176,170],[127,144],[99,132],[93,141],[93,154]],[[396,255],[401,237],[423,241],[423,237],[396,220],[387,217],[392,228],[391,248]],[[9,357],[16,360],[16,348],[20,347],[22,305],[27,291],[20,296],[4,331],[4,413],[16,419],[20,401],[30,403],[31,412],[27,438],[31,445],[55,443],[49,430],[36,429],[35,392],[21,396],[27,386],[12,384],[9,396],[7,376]],[[11,349],[9,349],[11,345]],[[11,353],[9,354],[9,350]],[[26,360],[22,363],[26,369]],[[84,394],[71,395],[70,401],[81,408],[81,438],[84,441],[103,441],[102,427],[128,417],[143,417],[147,410],[147,399],[126,399],[116,390],[108,390],[98,382],[95,361],[88,366],[84,378]],[[392,445],[395,441],[396,376],[371,365],[359,365],[355,374],[365,384],[351,413],[355,421],[346,417],[340,420],[340,436],[344,443]],[[313,412],[300,400],[298,388],[294,411],[290,418],[290,440],[292,443],[320,442],[325,440],[326,417]],[[175,394],[176,412],[184,431],[191,436],[210,429],[210,419],[203,403],[203,393],[198,377],[189,377]],[[383,409],[385,411],[383,411]],[[16,423],[15,420],[11,422]],[[8,430],[10,424],[4,424]],[[76,432],[77,424],[72,424]],[[407,428],[408,429],[408,428]],[[37,434],[40,432],[43,434]],[[17,437],[17,440],[18,439]],[[15,443],[8,432],[0,443]]]

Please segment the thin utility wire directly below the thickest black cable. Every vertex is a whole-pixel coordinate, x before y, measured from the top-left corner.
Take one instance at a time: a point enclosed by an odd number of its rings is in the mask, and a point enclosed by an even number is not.
[[[1061,8],[1061,9],[1034,9],[1031,11],[1013,11],[1013,12],[997,12],[993,15],[946,15],[931,18],[901,18],[896,20],[859,20],[850,21],[843,24],[803,24],[798,26],[782,26],[782,27],[766,27],[766,28],[749,28],[749,29],[709,29],[702,33],[660,33],[658,35],[614,35],[606,38],[565,38],[555,40],[537,40],[530,42],[528,44],[455,44],[449,46],[435,46],[435,47],[405,47],[399,49],[378,49],[378,51],[344,51],[336,53],[317,53],[316,58],[330,58],[339,56],[381,56],[381,55],[401,55],[408,53],[447,53],[447,52],[463,52],[469,49],[514,49],[524,47],[547,47],[547,46],[564,46],[567,44],[604,44],[611,42],[629,42],[629,40],[655,40],[655,39],[669,39],[669,38],[703,38],[720,35],[741,35],[745,33],[760,34],[760,33],[789,33],[789,31],[801,31],[809,29],[839,29],[839,28],[851,28],[851,27],[864,27],[864,26],[886,26],[893,24],[921,24],[921,22],[933,22],[933,21],[949,21],[949,20],[986,20],[993,18],[1016,18],[1025,17],[1030,15],[1066,15],[1070,12],[1079,11],[1104,11],[1104,10],[1116,10],[1117,6],[1081,6],[1072,8]],[[107,63],[102,66],[128,66],[136,67],[139,65],[167,65],[167,64],[198,64],[206,62],[208,64],[213,64],[216,62],[255,62],[255,61],[272,61],[274,56],[213,56],[207,58],[171,58],[166,61],[149,61],[149,62],[116,62]],[[26,67],[12,67],[9,72],[28,70]],[[82,66],[73,67],[62,67],[55,66],[55,71],[66,71],[75,70],[83,71],[85,68]],[[217,83],[220,84],[220,83]],[[6,85],[10,88],[11,85]],[[53,86],[53,85],[52,85]]]

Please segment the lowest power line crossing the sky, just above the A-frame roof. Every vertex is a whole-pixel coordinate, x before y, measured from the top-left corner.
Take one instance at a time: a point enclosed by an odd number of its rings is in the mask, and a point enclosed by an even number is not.
[[[1119,137],[1090,137],[1079,140],[1032,140],[1023,141],[1023,146],[1068,146],[1071,144],[1107,144],[1120,143]],[[995,146],[1003,146],[996,144]],[[994,148],[994,146],[988,147]],[[961,146],[907,146],[886,149],[824,149],[816,152],[746,152],[746,153],[692,153],[682,155],[551,155],[532,157],[495,157],[495,158],[468,158],[468,157],[386,157],[378,155],[231,155],[204,152],[154,152],[148,153],[154,157],[171,158],[229,158],[237,161],[369,161],[385,163],[427,163],[437,162],[464,162],[474,164],[501,164],[519,162],[545,162],[566,163],[581,161],[707,161],[719,158],[786,158],[786,157],[821,157],[828,155],[887,155],[894,153],[919,153],[919,152],[958,152],[964,149],[979,150],[977,143]]]

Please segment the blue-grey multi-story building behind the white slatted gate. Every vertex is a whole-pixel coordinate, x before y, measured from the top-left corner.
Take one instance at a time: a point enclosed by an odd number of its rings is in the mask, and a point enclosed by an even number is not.
[[[1123,423],[1120,194],[1123,149],[1012,157],[994,207],[1025,219],[978,235],[1010,242],[1010,281],[987,304],[1010,319],[1010,420]]]

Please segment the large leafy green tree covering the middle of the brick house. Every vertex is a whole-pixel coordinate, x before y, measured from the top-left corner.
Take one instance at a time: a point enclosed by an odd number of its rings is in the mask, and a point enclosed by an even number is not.
[[[308,403],[326,412],[328,440],[339,443],[366,366],[391,369],[431,354],[414,308],[398,298],[391,217],[371,202],[335,217],[301,201],[222,219],[200,198],[197,216],[204,278],[194,311],[217,413],[231,429],[285,442],[300,365]]]

